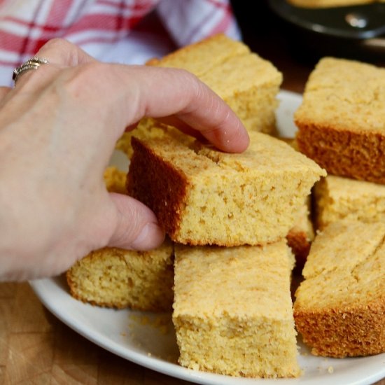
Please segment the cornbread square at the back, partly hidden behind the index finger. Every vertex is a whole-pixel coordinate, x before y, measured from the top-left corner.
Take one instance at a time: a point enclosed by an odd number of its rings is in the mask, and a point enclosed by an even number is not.
[[[274,130],[282,73],[241,41],[218,34],[147,64],[194,73],[222,97],[248,130]]]

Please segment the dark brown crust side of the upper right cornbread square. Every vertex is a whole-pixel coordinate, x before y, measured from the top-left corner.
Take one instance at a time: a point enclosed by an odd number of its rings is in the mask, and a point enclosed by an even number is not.
[[[328,173],[385,183],[385,134],[295,123],[298,148]]]

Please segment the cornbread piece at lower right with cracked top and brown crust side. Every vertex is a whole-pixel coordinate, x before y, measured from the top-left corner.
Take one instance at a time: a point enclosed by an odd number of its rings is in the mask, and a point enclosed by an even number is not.
[[[294,318],[317,356],[385,351],[385,223],[331,223],[311,244]]]

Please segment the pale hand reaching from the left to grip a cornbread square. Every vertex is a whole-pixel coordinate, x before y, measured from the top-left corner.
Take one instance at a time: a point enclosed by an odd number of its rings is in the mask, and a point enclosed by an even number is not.
[[[165,233],[137,200],[106,191],[116,141],[144,116],[172,120],[231,153],[248,135],[235,113],[179,69],[102,64],[55,39],[50,64],[0,87],[0,280],[55,276],[104,246],[148,250]]]

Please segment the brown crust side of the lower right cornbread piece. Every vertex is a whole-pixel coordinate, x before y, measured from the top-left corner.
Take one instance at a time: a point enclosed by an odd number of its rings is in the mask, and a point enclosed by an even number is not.
[[[385,351],[385,297],[357,307],[301,311],[294,305],[297,330],[316,356],[344,358]]]

